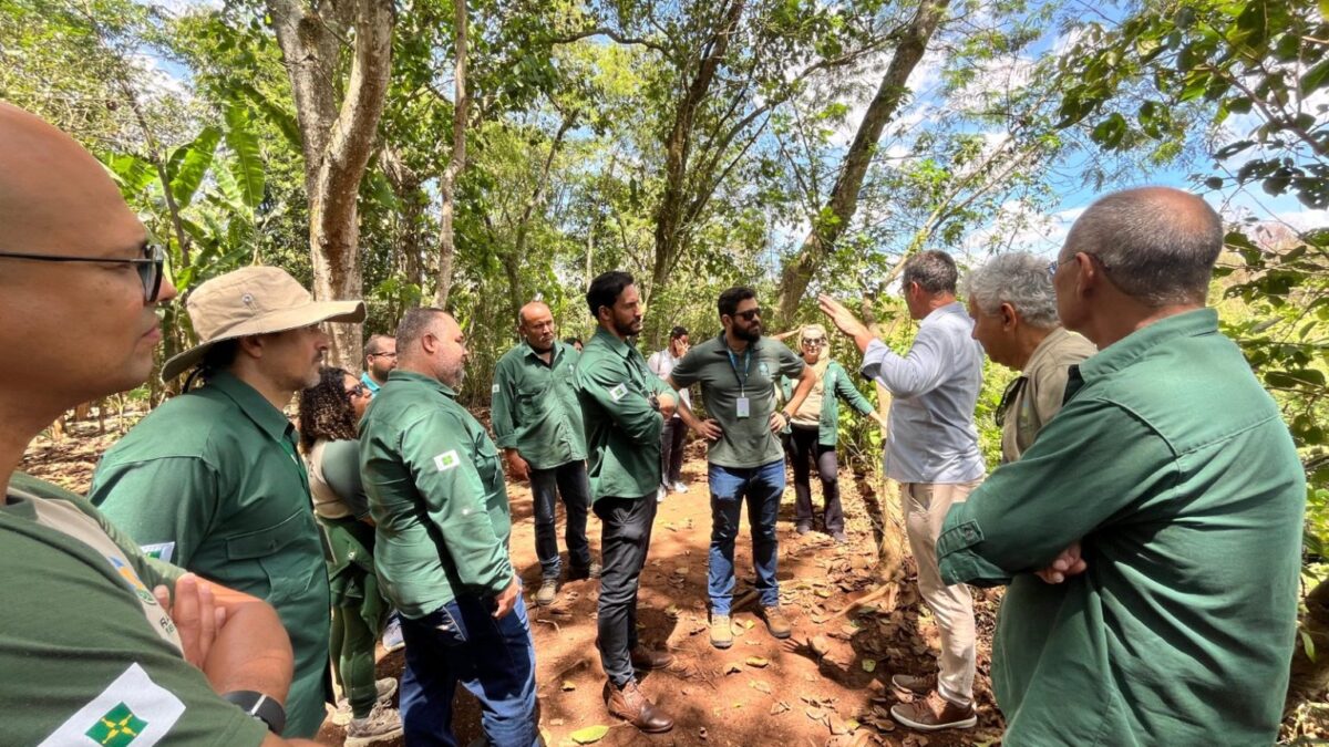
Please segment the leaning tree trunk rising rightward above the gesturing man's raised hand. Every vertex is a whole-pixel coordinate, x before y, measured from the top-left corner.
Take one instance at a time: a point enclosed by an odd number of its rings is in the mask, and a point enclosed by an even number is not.
[[[776,326],[784,327],[793,320],[799,311],[799,302],[803,300],[803,294],[808,290],[808,283],[812,282],[812,276],[853,219],[853,214],[859,209],[859,190],[863,189],[863,179],[872,165],[881,132],[896,116],[900,104],[909,92],[905,88],[909,73],[914,70],[926,52],[928,41],[937,31],[949,3],[950,0],[924,0],[918,5],[918,13],[901,36],[890,65],[881,78],[881,85],[877,86],[877,94],[868,105],[868,110],[859,124],[859,130],[853,136],[853,142],[845,153],[840,175],[836,178],[836,183],[831,189],[831,198],[827,199],[825,210],[821,213],[829,213],[831,218],[813,223],[812,230],[803,241],[803,247],[780,271]]]

